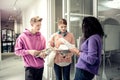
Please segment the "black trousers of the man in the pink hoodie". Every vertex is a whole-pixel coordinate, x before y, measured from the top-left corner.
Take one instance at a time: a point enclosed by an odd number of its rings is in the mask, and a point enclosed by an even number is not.
[[[36,69],[32,67],[25,68],[25,80],[42,80],[43,69]]]

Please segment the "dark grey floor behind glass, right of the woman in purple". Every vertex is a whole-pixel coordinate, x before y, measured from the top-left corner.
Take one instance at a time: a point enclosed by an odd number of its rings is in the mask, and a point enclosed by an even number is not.
[[[98,80],[120,80],[120,64],[112,63],[112,66],[106,64],[100,66]]]

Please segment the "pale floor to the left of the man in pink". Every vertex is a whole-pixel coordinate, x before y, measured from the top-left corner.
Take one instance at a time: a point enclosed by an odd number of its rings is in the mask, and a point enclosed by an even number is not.
[[[0,80],[24,80],[21,58],[13,54],[3,55],[3,60],[0,62]]]

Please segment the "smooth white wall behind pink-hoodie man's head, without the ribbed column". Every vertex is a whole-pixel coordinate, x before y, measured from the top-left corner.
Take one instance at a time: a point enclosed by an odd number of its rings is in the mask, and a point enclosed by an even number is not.
[[[47,0],[36,0],[23,11],[23,27],[21,32],[25,28],[30,27],[30,19],[34,16],[43,18],[40,31],[47,38]]]

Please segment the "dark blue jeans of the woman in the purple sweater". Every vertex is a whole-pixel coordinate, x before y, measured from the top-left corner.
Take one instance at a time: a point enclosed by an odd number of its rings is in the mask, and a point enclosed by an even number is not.
[[[74,80],[92,80],[93,78],[94,78],[94,74],[86,70],[76,68]]]

